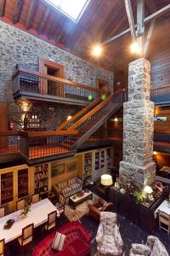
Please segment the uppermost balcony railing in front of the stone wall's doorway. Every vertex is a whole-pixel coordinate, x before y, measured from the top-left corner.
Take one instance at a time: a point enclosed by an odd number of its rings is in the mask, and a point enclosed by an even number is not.
[[[25,96],[48,102],[88,105],[99,96],[99,90],[37,71],[19,68],[13,76],[14,98]]]

